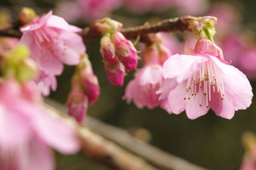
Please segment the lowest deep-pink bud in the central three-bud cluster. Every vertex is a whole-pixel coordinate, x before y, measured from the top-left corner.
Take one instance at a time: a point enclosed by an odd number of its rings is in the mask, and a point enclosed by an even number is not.
[[[113,85],[123,86],[125,75],[124,65],[121,62],[116,62],[114,64],[105,62],[105,67],[109,82]]]

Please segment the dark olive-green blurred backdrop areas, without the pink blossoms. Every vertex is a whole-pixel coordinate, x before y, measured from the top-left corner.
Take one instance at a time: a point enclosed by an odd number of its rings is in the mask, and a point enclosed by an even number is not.
[[[31,2],[33,3],[31,4]],[[10,9],[14,17],[17,16],[22,6],[34,7],[40,14],[54,9],[55,3],[59,2],[50,0],[4,0],[0,2],[0,7]],[[212,3],[213,1],[209,2]],[[234,1],[227,1],[227,3],[234,3]],[[236,6],[237,8],[241,9],[243,17],[241,27],[245,27],[246,31],[252,31],[254,35],[256,31],[256,1],[239,1],[236,5],[238,5]],[[111,15],[116,20],[123,22],[124,27],[144,24],[148,20],[155,21],[178,16],[175,10],[168,10],[157,14],[149,12],[138,17],[122,8],[114,11]],[[81,27],[86,25],[81,21],[74,24]],[[189,120],[185,113],[169,115],[160,108],[154,110],[143,108],[139,110],[133,103],[127,104],[122,100],[125,85],[133,78],[134,71],[131,71],[125,77],[124,87],[111,85],[104,70],[99,47],[99,41],[86,42],[86,52],[90,56],[93,71],[99,78],[101,88],[100,97],[93,106],[90,106],[88,115],[98,118],[107,124],[127,129],[127,131],[138,128],[147,129],[151,134],[151,140],[149,141],[151,145],[199,166],[209,169],[239,169],[244,153],[241,145],[241,135],[245,131],[256,133],[255,97],[253,97],[253,103],[250,108],[236,111],[232,120],[217,117],[212,110],[207,115],[196,120]],[[74,67],[66,66],[64,73],[57,77],[58,89],[56,92],[52,92],[51,97],[53,99],[61,103],[66,102],[70,90],[70,77],[73,73]],[[256,81],[252,80],[251,84],[253,94],[255,94]],[[82,153],[71,156],[56,153],[56,160],[58,162],[57,169],[60,170],[108,169],[97,162],[84,159]]]

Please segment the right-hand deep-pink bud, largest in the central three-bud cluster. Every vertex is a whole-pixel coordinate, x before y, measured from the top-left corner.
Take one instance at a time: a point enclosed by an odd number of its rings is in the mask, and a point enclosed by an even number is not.
[[[130,71],[136,69],[138,65],[138,56],[136,48],[131,41],[127,40],[121,32],[115,32],[112,35],[116,46],[116,53],[120,61],[124,64],[125,69]]]

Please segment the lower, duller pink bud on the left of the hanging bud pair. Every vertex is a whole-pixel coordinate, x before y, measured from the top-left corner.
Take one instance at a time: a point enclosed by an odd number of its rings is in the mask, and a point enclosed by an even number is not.
[[[88,97],[84,96],[78,76],[72,77],[72,90],[68,96],[68,115],[83,122],[88,108]]]

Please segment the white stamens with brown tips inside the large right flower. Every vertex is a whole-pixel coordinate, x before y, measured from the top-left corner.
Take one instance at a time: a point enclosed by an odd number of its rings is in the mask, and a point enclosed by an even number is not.
[[[196,94],[203,93],[206,100],[206,108],[209,108],[209,103],[211,103],[212,92],[220,94],[223,100],[225,93],[220,68],[216,66],[212,60],[204,62],[200,70],[196,71],[193,76],[188,79],[186,92],[187,94],[184,100],[189,100],[191,97],[196,96]],[[199,105],[202,106],[202,97],[199,99]]]

